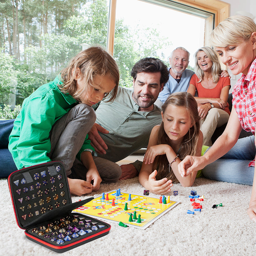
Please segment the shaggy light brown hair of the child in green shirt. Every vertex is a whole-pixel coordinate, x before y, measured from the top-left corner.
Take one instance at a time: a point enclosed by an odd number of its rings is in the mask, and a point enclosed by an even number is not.
[[[76,88],[77,68],[80,69],[85,78],[84,87],[80,90]],[[116,98],[119,83],[118,66],[113,57],[101,46],[92,46],[79,52],[70,60],[68,67],[60,71],[60,79],[63,84],[59,87],[62,92],[69,93],[75,100],[80,101],[81,95],[88,90],[89,86],[93,86],[94,77],[105,75],[112,78],[116,84],[108,100],[113,101]]]

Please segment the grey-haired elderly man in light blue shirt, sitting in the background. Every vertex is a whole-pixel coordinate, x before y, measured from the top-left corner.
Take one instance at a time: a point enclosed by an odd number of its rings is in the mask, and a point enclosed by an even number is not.
[[[194,71],[187,69],[189,63],[190,53],[183,47],[177,47],[171,53],[169,58],[170,66],[169,68],[169,80],[165,84],[162,92],[155,102],[158,107],[162,107],[165,100],[173,92],[187,92],[190,78]],[[223,70],[221,76],[229,76],[227,70]]]

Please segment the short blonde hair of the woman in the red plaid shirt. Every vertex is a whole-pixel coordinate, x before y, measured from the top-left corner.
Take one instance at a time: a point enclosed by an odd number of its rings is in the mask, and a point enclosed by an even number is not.
[[[212,45],[227,47],[230,44],[241,44],[248,41],[256,32],[255,22],[246,16],[231,16],[214,28],[211,33]]]

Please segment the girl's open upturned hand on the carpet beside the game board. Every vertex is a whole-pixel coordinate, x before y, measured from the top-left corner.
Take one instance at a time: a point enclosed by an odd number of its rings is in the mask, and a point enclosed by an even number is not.
[[[148,181],[145,184],[146,189],[156,195],[165,195],[169,193],[172,187],[172,180],[167,180],[167,178],[156,180],[156,174],[157,171],[155,170],[149,175]]]

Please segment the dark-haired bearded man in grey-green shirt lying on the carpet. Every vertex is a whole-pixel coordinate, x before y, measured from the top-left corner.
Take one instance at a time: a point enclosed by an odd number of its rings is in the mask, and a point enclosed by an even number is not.
[[[166,65],[159,59],[144,58],[134,65],[131,75],[133,91],[119,86],[112,103],[106,98],[94,106],[97,119],[89,139],[98,169],[104,168],[97,164],[100,157],[117,162],[147,147],[152,128],[162,121],[161,109],[154,102],[169,78]],[[140,167],[140,161],[122,165],[121,179],[135,177]],[[106,168],[106,172],[120,171],[118,165],[114,169]]]

